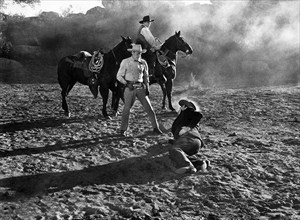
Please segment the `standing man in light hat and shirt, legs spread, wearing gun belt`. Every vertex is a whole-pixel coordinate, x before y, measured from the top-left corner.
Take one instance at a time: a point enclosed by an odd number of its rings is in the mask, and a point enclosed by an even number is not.
[[[142,49],[140,44],[132,44],[132,56],[124,59],[120,64],[120,69],[117,73],[117,80],[125,85],[124,90],[124,109],[122,112],[121,135],[126,136],[128,129],[128,121],[130,109],[137,97],[140,100],[144,110],[147,112],[153,131],[156,134],[162,134],[149,100],[149,75],[148,65],[145,60],[141,58],[141,54],[146,52]]]

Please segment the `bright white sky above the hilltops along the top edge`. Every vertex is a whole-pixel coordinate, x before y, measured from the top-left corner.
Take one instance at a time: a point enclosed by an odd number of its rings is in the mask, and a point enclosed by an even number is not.
[[[172,2],[172,0],[169,2]],[[173,0],[173,2],[183,2],[185,4],[211,4],[210,0]],[[38,16],[43,11],[54,11],[60,15],[63,15],[66,11],[74,14],[85,14],[89,9],[96,6],[104,8],[102,0],[40,0],[40,3],[34,4],[33,6],[15,4],[12,0],[5,0],[5,7],[0,9],[0,12],[9,15],[17,14],[25,17]]]

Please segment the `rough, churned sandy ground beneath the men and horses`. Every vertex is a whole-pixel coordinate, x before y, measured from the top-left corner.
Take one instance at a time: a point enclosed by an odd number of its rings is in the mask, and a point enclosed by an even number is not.
[[[137,102],[131,137],[104,120],[101,98],[76,85],[73,115],[57,84],[0,84],[0,219],[300,219],[300,87],[176,87],[204,114],[208,172],[177,175],[167,140],[176,113],[151,101],[164,135]],[[176,106],[178,107],[178,106]],[[123,105],[121,105],[121,110]]]

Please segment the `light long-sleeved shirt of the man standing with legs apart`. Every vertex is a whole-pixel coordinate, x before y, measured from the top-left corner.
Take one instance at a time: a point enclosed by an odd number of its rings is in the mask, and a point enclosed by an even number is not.
[[[131,82],[144,82],[149,84],[148,65],[144,59],[138,61],[133,57],[122,60],[120,68],[117,73],[117,80],[122,84],[127,81]]]

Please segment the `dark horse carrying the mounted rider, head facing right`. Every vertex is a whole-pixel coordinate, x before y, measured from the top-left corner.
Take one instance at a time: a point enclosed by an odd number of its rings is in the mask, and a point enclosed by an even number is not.
[[[150,75],[150,85],[158,83],[163,92],[162,108],[166,109],[165,102],[166,96],[168,97],[169,109],[174,111],[172,106],[172,89],[173,80],[176,77],[176,62],[177,52],[181,51],[187,55],[193,53],[193,49],[189,43],[187,43],[181,36],[180,31],[169,37],[161,46],[160,53],[164,55],[168,61],[168,66],[164,67],[164,64],[159,62],[158,56],[156,56],[155,67],[153,75]]]

